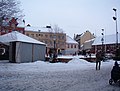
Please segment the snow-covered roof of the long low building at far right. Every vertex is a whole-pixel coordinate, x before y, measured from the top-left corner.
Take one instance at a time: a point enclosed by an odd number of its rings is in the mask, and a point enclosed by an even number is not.
[[[120,33],[118,34],[118,37],[120,36]],[[102,44],[102,36],[96,37],[95,41],[93,42],[93,45],[101,45]],[[115,44],[116,43],[116,34],[112,35],[105,35],[104,36],[104,44]],[[120,40],[118,38],[118,43],[120,43]]]

